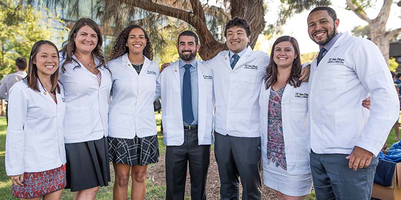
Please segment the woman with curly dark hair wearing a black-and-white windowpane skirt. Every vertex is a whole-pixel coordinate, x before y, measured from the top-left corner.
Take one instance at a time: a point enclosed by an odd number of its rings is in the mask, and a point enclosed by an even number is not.
[[[126,198],[130,176],[131,199],[143,199],[147,165],[158,161],[153,101],[159,66],[152,58],[146,31],[130,25],[118,35],[108,63],[113,81],[108,140],[115,171],[115,199]]]

